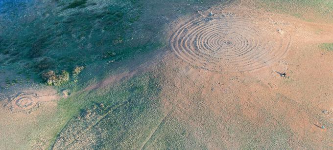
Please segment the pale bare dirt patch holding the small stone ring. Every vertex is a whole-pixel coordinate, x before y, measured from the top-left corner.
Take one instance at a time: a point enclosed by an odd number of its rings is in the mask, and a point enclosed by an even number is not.
[[[43,118],[52,118],[56,111],[57,100],[63,95],[58,94],[52,88],[42,90],[24,90],[18,94],[6,95],[1,97],[0,108],[0,129],[2,148],[11,148],[11,145],[17,144],[21,149],[26,149],[25,142],[28,139],[33,139],[39,135],[43,135],[47,131],[38,130],[44,124],[38,124]],[[42,121],[43,122],[43,121]],[[46,125],[44,129],[52,130],[52,125]],[[41,128],[40,128],[41,129]],[[27,136],[28,135],[28,136]],[[39,148],[46,149],[48,141],[52,135],[43,135],[39,137],[40,141],[34,145],[39,145]],[[41,144],[42,143],[42,144]]]

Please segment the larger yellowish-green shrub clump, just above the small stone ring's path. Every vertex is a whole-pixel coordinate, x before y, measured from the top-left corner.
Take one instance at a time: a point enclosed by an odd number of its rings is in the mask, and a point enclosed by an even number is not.
[[[57,75],[54,71],[48,71],[42,74],[42,78],[48,85],[61,85],[70,79],[70,74],[63,70],[60,75]]]

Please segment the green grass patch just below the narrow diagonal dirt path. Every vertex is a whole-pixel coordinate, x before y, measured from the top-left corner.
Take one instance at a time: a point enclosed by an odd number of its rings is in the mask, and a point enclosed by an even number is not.
[[[75,95],[70,99],[59,102],[60,111],[58,115],[61,118],[66,118],[62,121],[66,123],[69,119],[84,113],[93,105],[103,103],[105,107],[110,107],[112,112],[95,128],[108,129],[108,133],[101,138],[103,141],[99,141],[99,144],[94,145],[94,147],[108,149],[133,148],[137,145],[123,145],[122,143],[137,141],[135,135],[145,135],[142,130],[149,131],[157,123],[158,119],[156,118],[161,117],[158,83],[158,79],[149,74],[143,74],[128,81],[123,81],[116,86]],[[101,114],[103,113],[105,112],[101,112]],[[77,121],[79,120],[74,119],[70,124]],[[65,130],[66,128],[70,128],[70,126],[66,126]]]

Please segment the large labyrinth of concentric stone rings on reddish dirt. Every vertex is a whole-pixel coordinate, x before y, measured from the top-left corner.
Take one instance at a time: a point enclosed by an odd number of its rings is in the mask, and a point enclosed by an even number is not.
[[[267,66],[289,47],[286,35],[260,31],[247,19],[198,18],[176,30],[170,43],[176,55],[194,67],[244,72]]]

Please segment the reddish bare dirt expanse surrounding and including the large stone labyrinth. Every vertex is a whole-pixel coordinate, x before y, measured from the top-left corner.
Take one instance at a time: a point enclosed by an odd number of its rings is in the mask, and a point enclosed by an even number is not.
[[[210,149],[332,149],[333,54],[317,45],[333,25],[249,4],[203,14],[170,31],[166,110]]]

